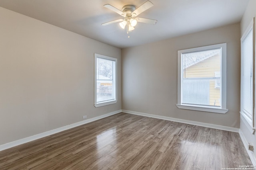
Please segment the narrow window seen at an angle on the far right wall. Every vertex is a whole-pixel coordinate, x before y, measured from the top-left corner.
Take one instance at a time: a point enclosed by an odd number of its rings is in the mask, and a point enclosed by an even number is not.
[[[241,110],[244,119],[253,127],[253,20],[241,38]]]

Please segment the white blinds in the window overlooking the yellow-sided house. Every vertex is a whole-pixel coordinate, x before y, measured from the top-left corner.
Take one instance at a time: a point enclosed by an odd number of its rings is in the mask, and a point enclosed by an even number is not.
[[[182,104],[221,107],[221,48],[182,53]]]

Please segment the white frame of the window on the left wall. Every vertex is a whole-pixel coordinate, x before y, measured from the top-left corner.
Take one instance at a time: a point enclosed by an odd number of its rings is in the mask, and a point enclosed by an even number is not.
[[[115,72],[116,72],[116,74],[113,74],[113,96],[114,96],[113,100],[97,102],[97,58],[102,58],[102,59],[116,62],[115,68],[113,68],[115,69]],[[101,106],[106,106],[110,104],[115,104],[116,102],[117,102],[117,59],[94,53],[94,106],[101,107]]]

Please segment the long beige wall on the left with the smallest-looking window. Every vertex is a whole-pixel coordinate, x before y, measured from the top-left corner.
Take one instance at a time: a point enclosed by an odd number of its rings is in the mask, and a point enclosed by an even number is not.
[[[121,109],[121,50],[0,8],[0,145]],[[94,107],[94,53],[118,59],[118,102]]]

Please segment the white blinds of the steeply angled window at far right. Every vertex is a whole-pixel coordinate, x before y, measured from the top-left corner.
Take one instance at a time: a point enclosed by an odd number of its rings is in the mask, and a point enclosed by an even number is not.
[[[242,41],[242,112],[252,120],[253,109],[253,33]]]

